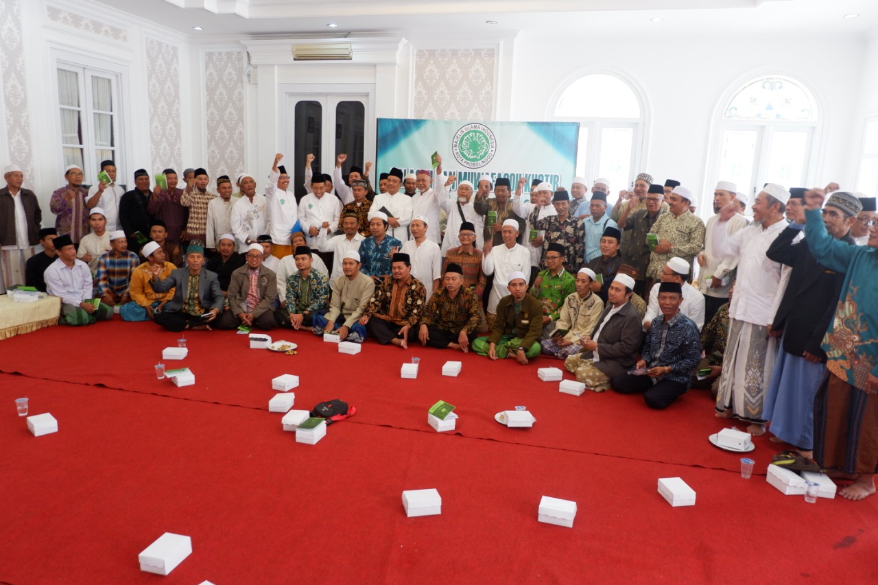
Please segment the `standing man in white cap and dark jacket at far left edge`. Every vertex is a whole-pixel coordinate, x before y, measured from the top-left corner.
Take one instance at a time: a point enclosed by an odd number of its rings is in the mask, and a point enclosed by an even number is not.
[[[37,253],[43,212],[30,189],[22,189],[24,174],[17,164],[4,169],[6,186],[0,189],[0,293],[7,286],[25,284],[25,264]]]

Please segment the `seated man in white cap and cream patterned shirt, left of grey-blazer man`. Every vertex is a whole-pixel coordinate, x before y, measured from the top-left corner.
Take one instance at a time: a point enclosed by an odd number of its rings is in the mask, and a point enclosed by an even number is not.
[[[566,359],[582,350],[581,343],[591,338],[598,317],[603,312],[603,300],[592,292],[595,278],[590,268],[580,268],[576,275],[576,291],[567,296],[558,312],[556,329],[540,342],[543,353]]]

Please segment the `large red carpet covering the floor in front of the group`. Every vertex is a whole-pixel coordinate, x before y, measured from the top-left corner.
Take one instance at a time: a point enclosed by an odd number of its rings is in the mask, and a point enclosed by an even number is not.
[[[169,583],[878,578],[878,498],[806,504],[764,477],[740,479],[738,456],[707,441],[723,424],[704,394],[654,412],[637,396],[559,394],[536,378],[556,360],[522,367],[376,343],[339,356],[292,333],[301,351],[286,357],[227,332],[190,335],[184,365],[197,383],[176,388],[151,378],[174,337],[112,321],[0,342],[0,369],[26,374],[0,375],[0,581],[160,582],[140,573],[137,553],[164,531],[193,541]],[[399,379],[413,353],[420,379]],[[448,359],[464,362],[460,378],[439,375]],[[345,368],[367,383],[317,371]],[[297,408],[340,397],[357,415],[320,444],[296,444],[266,412],[284,372],[302,379]],[[64,379],[133,392],[46,381]],[[14,414],[20,395],[60,432],[32,437]],[[459,434],[427,426],[439,398],[457,405]],[[493,422],[516,404],[534,412],[533,429]],[[764,473],[775,446],[757,445]],[[656,481],[669,476],[694,488],[694,507],[661,498]],[[405,516],[400,494],[418,488],[439,490],[442,516]],[[578,502],[572,529],[536,522],[541,495]]]

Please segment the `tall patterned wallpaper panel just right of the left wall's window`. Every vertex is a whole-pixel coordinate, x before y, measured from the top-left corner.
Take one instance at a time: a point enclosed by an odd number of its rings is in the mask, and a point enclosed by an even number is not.
[[[150,157],[155,171],[171,167],[183,172],[177,48],[149,38],[146,47]]]

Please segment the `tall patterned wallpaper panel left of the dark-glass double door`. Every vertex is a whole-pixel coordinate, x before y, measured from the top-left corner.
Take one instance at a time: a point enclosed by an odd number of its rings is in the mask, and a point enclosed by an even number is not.
[[[244,170],[244,53],[205,53],[207,161],[212,179]]]

